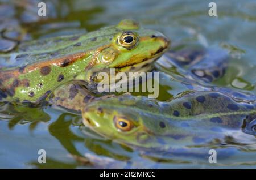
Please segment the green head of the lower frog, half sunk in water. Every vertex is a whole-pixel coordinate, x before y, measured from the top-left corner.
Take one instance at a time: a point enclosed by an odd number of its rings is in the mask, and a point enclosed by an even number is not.
[[[118,143],[157,149],[164,145],[160,138],[177,132],[170,119],[156,115],[159,109],[154,102],[126,94],[93,101],[82,110],[83,122],[93,131]],[[147,113],[147,109],[151,113]]]

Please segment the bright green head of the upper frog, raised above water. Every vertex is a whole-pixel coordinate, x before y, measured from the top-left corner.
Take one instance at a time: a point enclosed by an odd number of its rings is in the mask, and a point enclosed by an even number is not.
[[[89,34],[90,35],[90,34]],[[77,79],[88,80],[98,72],[115,68],[115,72],[147,72],[152,62],[170,46],[170,40],[162,33],[142,28],[134,20],[125,19],[118,25],[93,32],[92,40],[98,48],[90,52],[92,61],[84,75]]]

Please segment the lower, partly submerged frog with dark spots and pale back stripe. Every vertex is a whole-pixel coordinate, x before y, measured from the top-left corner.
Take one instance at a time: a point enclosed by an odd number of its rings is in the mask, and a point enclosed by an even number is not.
[[[256,104],[214,91],[190,92],[170,102],[123,95],[91,102],[82,111],[92,130],[119,143],[147,149],[183,148],[256,135]]]

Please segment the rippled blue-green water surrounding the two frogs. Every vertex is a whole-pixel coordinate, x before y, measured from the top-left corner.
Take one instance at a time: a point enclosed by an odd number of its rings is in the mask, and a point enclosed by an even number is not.
[[[36,1],[0,2],[11,6],[0,8],[0,20],[14,19],[15,26],[27,29],[27,39],[84,33],[133,18],[163,32],[174,45],[222,46],[232,50],[231,61],[213,84],[256,93],[255,1],[214,1],[217,17],[208,15],[210,1],[45,1],[45,19],[36,15]],[[160,85],[159,100],[186,89],[163,73]],[[82,126],[80,115],[50,107],[0,106],[0,168],[255,168],[255,138],[241,138],[242,143],[214,147],[224,153],[217,164],[196,157],[159,160],[94,134]],[[47,152],[46,164],[37,161],[39,149]]]

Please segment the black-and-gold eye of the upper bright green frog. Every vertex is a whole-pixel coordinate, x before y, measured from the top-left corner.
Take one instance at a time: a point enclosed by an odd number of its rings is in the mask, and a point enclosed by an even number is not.
[[[138,37],[132,32],[125,32],[117,39],[117,43],[126,49],[132,49],[137,45]]]

